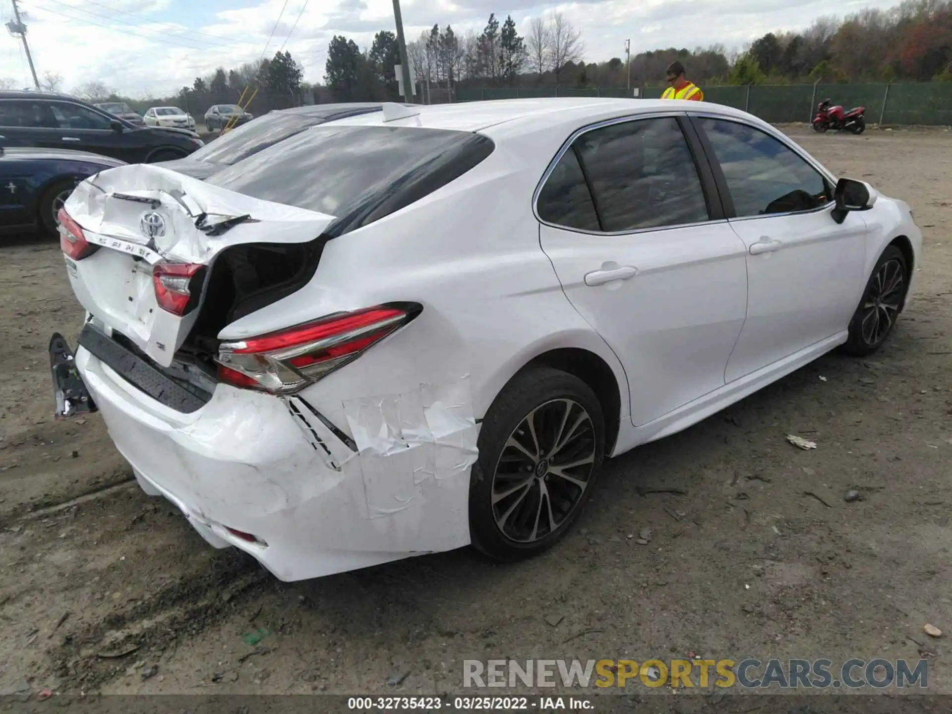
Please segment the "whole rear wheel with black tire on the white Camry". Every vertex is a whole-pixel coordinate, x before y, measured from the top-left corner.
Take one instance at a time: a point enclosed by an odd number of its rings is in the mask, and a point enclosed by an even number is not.
[[[501,561],[555,544],[585,506],[605,454],[598,397],[551,367],[517,374],[489,407],[469,485],[470,540]]]

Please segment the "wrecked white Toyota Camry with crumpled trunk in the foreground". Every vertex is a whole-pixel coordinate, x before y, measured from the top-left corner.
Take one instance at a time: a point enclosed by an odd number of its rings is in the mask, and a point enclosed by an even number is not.
[[[385,105],[63,224],[116,446],[283,580],[544,550],[605,458],[880,347],[922,243],[749,114],[625,99]]]

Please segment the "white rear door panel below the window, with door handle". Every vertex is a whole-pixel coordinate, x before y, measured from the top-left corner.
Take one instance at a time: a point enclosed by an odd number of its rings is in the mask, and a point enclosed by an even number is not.
[[[746,250],[725,221],[627,235],[542,226],[565,295],[618,355],[636,426],[724,387],[744,325]],[[598,271],[630,277],[588,285]]]

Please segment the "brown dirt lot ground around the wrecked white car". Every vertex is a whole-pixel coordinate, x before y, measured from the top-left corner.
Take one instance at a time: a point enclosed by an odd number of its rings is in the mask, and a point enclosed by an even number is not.
[[[465,549],[285,585],[211,549],[129,483],[98,415],[52,419],[47,342],[81,313],[58,247],[8,239],[0,689],[427,694],[459,691],[466,658],[691,651],[926,656],[930,690],[952,693],[952,133],[791,133],[914,208],[924,259],[897,331],[610,462],[574,531],[522,565]]]

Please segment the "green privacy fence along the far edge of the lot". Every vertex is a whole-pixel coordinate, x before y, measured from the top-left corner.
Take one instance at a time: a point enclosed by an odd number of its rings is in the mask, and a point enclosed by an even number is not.
[[[816,105],[829,98],[847,109],[863,106],[870,124],[952,125],[952,83],[855,85],[753,85],[751,87],[702,87],[704,100],[744,109],[764,121],[807,122]],[[663,88],[641,89],[645,99],[658,99]],[[456,101],[526,99],[538,97],[627,97],[630,89],[456,89]]]

